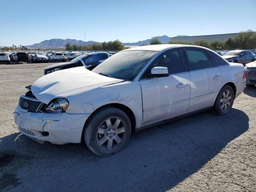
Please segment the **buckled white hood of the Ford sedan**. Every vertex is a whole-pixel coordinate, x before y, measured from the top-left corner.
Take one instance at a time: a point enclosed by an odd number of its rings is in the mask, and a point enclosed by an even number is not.
[[[82,66],[42,76],[32,84],[31,90],[38,100],[48,104],[54,98],[65,98],[121,81],[96,74]]]

